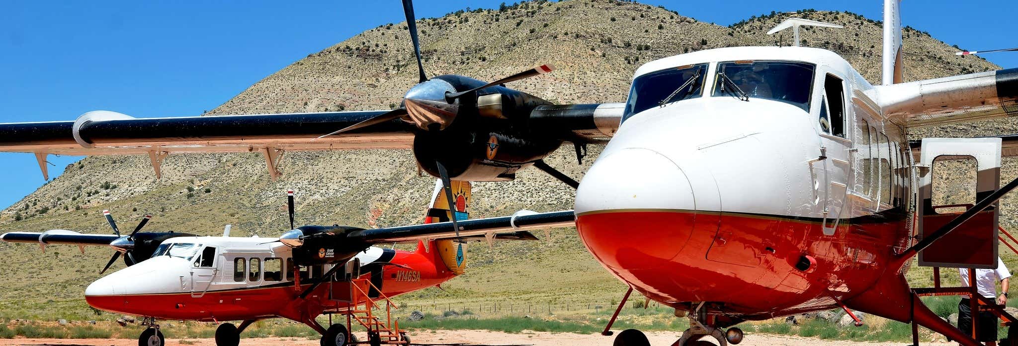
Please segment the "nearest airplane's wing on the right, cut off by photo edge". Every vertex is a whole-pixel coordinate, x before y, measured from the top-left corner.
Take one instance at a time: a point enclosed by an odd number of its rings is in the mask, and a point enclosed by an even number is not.
[[[879,85],[873,97],[892,122],[909,128],[1014,117],[1018,68]]]

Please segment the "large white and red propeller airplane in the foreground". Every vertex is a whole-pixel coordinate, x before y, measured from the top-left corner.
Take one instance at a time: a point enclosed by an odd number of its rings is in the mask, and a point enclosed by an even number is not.
[[[527,220],[575,219],[606,269],[690,319],[677,346],[704,336],[735,344],[741,331],[724,329],[740,322],[837,307],[979,344],[926,308],[904,272],[916,255],[920,265],[996,266],[987,261],[997,255],[995,204],[1018,186],[998,189],[1000,161],[1018,155],[1018,136],[913,143],[906,135],[1018,114],[1018,69],[903,83],[899,1],[885,0],[881,85],[831,51],[739,47],[648,62],[624,103],[554,105],[502,86],[550,65],[490,83],[429,78],[412,5],[403,5],[420,82],[394,111],[157,119],[100,111],[0,124],[0,151],[40,162],[149,154],[158,169],[167,153],[257,150],[276,177],[284,151],[411,148],[445,186],[508,181],[532,165],[578,190],[575,210]],[[564,142],[582,158],[586,144],[605,141],[582,183],[542,160]],[[931,162],[966,156],[978,164],[979,202],[939,213]],[[462,233],[464,224],[435,227]],[[648,344],[635,330],[615,343]]]

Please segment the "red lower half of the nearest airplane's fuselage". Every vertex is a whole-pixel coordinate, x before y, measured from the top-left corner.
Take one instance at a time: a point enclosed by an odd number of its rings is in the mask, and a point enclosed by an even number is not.
[[[657,301],[724,302],[742,318],[833,306],[868,288],[905,234],[904,219],[843,220],[833,235],[791,217],[693,211],[580,214],[577,230],[619,279]],[[855,223],[853,223],[855,222]],[[809,273],[795,269],[809,255]]]

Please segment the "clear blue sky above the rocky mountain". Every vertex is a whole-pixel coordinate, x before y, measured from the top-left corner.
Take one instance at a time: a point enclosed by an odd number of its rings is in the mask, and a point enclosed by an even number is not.
[[[502,1],[417,0],[417,17]],[[721,25],[803,8],[881,19],[869,1],[646,0]],[[403,20],[382,1],[5,1],[0,3],[0,122],[73,120],[94,110],[134,117],[200,115],[309,53],[364,29]],[[512,2],[509,2],[510,4]],[[963,49],[1018,47],[1018,1],[905,1],[903,21]],[[1018,53],[987,55],[1005,68]],[[77,157],[50,157],[56,177]],[[0,207],[44,181],[35,156],[0,153]]]

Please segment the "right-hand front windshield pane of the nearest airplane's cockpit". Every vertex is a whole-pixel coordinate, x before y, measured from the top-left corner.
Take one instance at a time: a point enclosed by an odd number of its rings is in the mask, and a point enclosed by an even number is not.
[[[718,63],[711,95],[774,99],[809,112],[814,69],[793,61]]]

